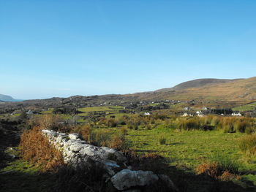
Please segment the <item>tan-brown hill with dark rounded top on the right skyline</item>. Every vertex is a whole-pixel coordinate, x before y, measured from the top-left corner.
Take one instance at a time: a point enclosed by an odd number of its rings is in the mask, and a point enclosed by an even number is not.
[[[155,91],[155,93],[164,99],[246,103],[256,100],[256,77],[236,80],[193,80],[183,82],[173,88]]]

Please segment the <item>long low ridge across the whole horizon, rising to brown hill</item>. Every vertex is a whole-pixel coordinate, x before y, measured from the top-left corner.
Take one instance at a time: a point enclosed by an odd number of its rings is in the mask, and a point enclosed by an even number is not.
[[[72,96],[69,98],[36,99],[1,104],[1,110],[12,111],[26,107],[97,106],[102,103],[118,105],[121,102],[195,100],[198,105],[237,107],[256,101],[256,77],[236,80],[201,79],[183,82],[173,88],[164,88],[132,94],[110,94],[101,96]],[[3,100],[0,98],[0,100]]]

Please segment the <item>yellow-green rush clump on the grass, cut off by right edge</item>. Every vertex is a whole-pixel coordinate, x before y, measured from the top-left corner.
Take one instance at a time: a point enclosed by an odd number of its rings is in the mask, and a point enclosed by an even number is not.
[[[250,155],[256,154],[256,134],[248,135],[240,139],[240,150]]]

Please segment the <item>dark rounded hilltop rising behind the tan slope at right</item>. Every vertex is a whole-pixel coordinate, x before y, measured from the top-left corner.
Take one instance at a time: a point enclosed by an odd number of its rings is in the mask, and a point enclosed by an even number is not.
[[[187,82],[182,82],[173,88],[163,88],[159,89],[157,91],[179,91],[179,90],[184,90],[187,88],[200,88],[206,85],[214,85],[214,84],[219,84],[219,83],[226,83],[226,82],[232,82],[236,80],[242,80],[242,79],[235,79],[235,80],[222,80],[222,79],[197,79],[197,80],[190,80]]]

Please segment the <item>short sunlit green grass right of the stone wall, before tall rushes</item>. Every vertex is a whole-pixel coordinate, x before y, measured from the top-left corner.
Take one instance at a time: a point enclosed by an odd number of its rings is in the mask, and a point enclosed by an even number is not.
[[[112,133],[118,133],[119,128],[108,128]],[[99,131],[99,130],[97,130]],[[132,149],[140,154],[157,153],[162,155],[170,166],[183,167],[186,172],[195,173],[195,168],[202,163],[211,161],[214,155],[235,159],[239,164],[241,180],[238,185],[245,188],[255,188],[256,164],[255,157],[241,153],[238,142],[246,134],[226,134],[223,131],[177,131],[174,128],[154,128],[152,130],[128,130],[126,139],[132,143]],[[164,145],[159,139],[165,138]],[[248,184],[251,183],[251,184]],[[256,190],[256,188],[255,188]]]

